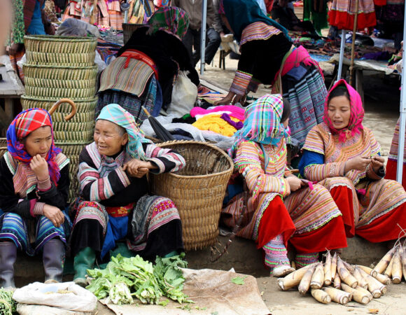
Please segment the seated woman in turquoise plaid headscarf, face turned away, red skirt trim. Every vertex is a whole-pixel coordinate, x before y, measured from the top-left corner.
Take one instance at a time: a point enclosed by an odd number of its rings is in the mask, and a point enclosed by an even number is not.
[[[286,168],[289,113],[279,94],[265,95],[246,108],[230,155],[235,175],[248,187],[248,200],[240,193],[222,212],[225,224],[234,228],[244,211],[237,235],[263,248],[274,276],[293,271],[288,243],[295,248],[297,267],[316,262],[326,248],[346,247],[342,216],[328,190],[308,186]]]

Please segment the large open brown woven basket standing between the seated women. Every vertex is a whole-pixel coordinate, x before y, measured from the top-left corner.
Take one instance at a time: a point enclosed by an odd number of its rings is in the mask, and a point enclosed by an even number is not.
[[[176,173],[151,174],[151,193],[168,197],[176,204],[187,251],[215,244],[233,169],[231,158],[216,146],[203,142],[170,141],[157,145],[178,151],[185,158],[186,167]]]

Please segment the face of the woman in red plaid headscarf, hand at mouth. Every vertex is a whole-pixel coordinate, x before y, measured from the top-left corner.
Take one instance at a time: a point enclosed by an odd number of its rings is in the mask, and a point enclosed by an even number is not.
[[[52,146],[52,132],[50,126],[39,127],[20,140],[25,146],[25,151],[32,157],[39,154],[42,158],[46,158],[50,147]]]

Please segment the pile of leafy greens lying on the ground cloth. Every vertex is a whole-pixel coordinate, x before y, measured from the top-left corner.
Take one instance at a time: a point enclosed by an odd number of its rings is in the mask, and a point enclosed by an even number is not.
[[[124,258],[118,254],[111,258],[106,269],[89,269],[92,282],[87,286],[100,300],[105,297],[114,304],[132,304],[137,297],[144,304],[158,304],[160,297],[191,302],[183,294],[183,274],[180,267],[187,267],[185,253],[170,258],[156,259],[155,267],[139,255]]]

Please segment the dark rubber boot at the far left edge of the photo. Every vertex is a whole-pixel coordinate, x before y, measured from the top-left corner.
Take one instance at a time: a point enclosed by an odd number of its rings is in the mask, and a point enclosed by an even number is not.
[[[0,286],[15,288],[14,262],[17,258],[17,246],[13,241],[0,242]]]

